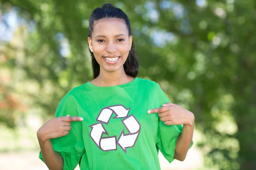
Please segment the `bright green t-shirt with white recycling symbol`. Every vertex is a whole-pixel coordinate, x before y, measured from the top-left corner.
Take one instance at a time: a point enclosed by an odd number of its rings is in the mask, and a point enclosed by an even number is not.
[[[79,164],[81,170],[160,170],[158,150],[169,162],[174,160],[182,125],[165,125],[157,113],[147,111],[167,102],[156,82],[137,77],[123,85],[87,82],[73,88],[55,116],[81,116],[84,121],[72,122],[67,136],[51,139],[63,169]],[[39,158],[43,160],[41,152]]]

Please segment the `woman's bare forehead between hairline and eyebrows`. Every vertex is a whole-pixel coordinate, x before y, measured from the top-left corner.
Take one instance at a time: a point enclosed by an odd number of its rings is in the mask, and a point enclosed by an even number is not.
[[[94,35],[116,35],[116,34],[126,34],[128,35],[128,28],[126,27],[125,21],[118,18],[108,18],[97,20],[93,24],[93,34]]]

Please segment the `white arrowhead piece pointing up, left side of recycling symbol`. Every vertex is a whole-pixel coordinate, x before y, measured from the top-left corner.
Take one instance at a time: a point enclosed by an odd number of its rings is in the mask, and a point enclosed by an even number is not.
[[[106,130],[104,129],[101,123],[96,123],[96,124],[90,125],[89,127],[92,127],[92,130],[90,131],[90,137],[93,139],[93,142],[95,142],[99,147],[99,141],[102,137],[102,134],[104,133],[108,135],[108,133],[106,132]]]

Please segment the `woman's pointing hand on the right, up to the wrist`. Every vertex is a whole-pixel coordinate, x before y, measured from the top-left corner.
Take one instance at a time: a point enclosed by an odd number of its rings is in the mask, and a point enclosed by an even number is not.
[[[192,112],[170,102],[162,106],[149,110],[148,114],[159,113],[158,116],[165,125],[194,125],[195,116]]]

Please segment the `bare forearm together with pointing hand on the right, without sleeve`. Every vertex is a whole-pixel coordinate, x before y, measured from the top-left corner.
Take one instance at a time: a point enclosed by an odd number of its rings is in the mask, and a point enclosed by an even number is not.
[[[162,106],[149,110],[148,114],[158,113],[160,120],[168,126],[183,125],[182,132],[177,138],[174,158],[184,161],[192,142],[195,116],[192,112],[182,108],[180,105],[168,102]]]

